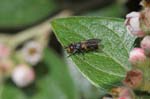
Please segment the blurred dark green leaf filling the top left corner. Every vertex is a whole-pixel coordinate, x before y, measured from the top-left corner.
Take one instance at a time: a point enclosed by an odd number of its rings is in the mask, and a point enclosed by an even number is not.
[[[29,26],[54,13],[55,0],[0,0],[0,28]]]

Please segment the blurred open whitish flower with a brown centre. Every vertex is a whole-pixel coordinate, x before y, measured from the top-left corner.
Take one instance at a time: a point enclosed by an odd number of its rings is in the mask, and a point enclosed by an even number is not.
[[[23,58],[31,65],[36,65],[42,58],[42,51],[42,46],[38,42],[28,42],[22,49]]]

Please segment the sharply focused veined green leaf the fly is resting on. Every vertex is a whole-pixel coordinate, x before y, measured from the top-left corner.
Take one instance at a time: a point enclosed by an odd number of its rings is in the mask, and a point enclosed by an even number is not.
[[[128,54],[135,38],[127,33],[122,19],[103,17],[70,17],[52,22],[53,30],[62,44],[91,38],[102,40],[102,52],[72,55],[73,62],[95,86],[116,86],[130,70]]]

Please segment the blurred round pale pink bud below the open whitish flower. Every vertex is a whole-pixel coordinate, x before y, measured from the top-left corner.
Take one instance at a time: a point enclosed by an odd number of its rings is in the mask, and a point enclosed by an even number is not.
[[[21,64],[17,66],[12,73],[12,80],[19,87],[26,87],[35,79],[35,73],[32,68]]]

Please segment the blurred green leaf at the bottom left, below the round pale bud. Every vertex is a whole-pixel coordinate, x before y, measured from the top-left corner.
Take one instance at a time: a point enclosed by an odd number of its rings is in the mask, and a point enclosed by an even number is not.
[[[20,89],[9,81],[2,87],[0,99],[77,99],[77,91],[65,62],[48,49],[43,61],[47,70],[43,71],[45,66],[40,64],[34,84]]]

